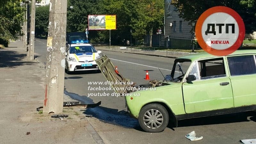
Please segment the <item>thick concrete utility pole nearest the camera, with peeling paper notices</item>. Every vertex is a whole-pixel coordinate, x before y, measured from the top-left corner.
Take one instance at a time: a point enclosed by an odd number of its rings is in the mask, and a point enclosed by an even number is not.
[[[44,113],[63,112],[67,0],[51,0],[47,37]]]

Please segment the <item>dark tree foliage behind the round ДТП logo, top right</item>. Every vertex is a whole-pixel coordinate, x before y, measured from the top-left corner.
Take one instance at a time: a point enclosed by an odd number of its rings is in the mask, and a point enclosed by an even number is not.
[[[196,21],[207,9],[214,6],[227,6],[234,9],[244,20],[245,32],[256,31],[256,0],[172,0],[180,17],[186,21]]]

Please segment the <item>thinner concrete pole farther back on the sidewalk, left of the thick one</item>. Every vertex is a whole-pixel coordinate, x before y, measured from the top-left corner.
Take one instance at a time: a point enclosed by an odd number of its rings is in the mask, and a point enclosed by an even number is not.
[[[31,2],[31,20],[30,20],[30,45],[28,50],[29,60],[34,60],[35,50],[35,17],[36,17],[36,0]]]

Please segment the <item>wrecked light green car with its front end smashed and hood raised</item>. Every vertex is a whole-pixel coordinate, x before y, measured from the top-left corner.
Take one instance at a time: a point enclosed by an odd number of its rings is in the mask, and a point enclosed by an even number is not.
[[[107,56],[96,62],[107,80],[114,82],[112,87],[119,88],[116,93],[125,96],[129,113],[146,132],[163,131],[169,120],[177,126],[181,119],[256,109],[256,50],[177,58],[171,74],[148,87],[129,83]]]

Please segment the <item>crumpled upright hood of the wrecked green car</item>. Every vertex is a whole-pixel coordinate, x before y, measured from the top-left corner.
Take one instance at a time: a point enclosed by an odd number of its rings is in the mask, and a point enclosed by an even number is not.
[[[102,57],[95,60],[101,73],[108,80],[109,84],[116,93],[127,93],[127,88],[132,86],[132,82],[129,79],[124,78],[118,71],[116,72],[115,66],[108,59],[108,57],[103,54]]]

